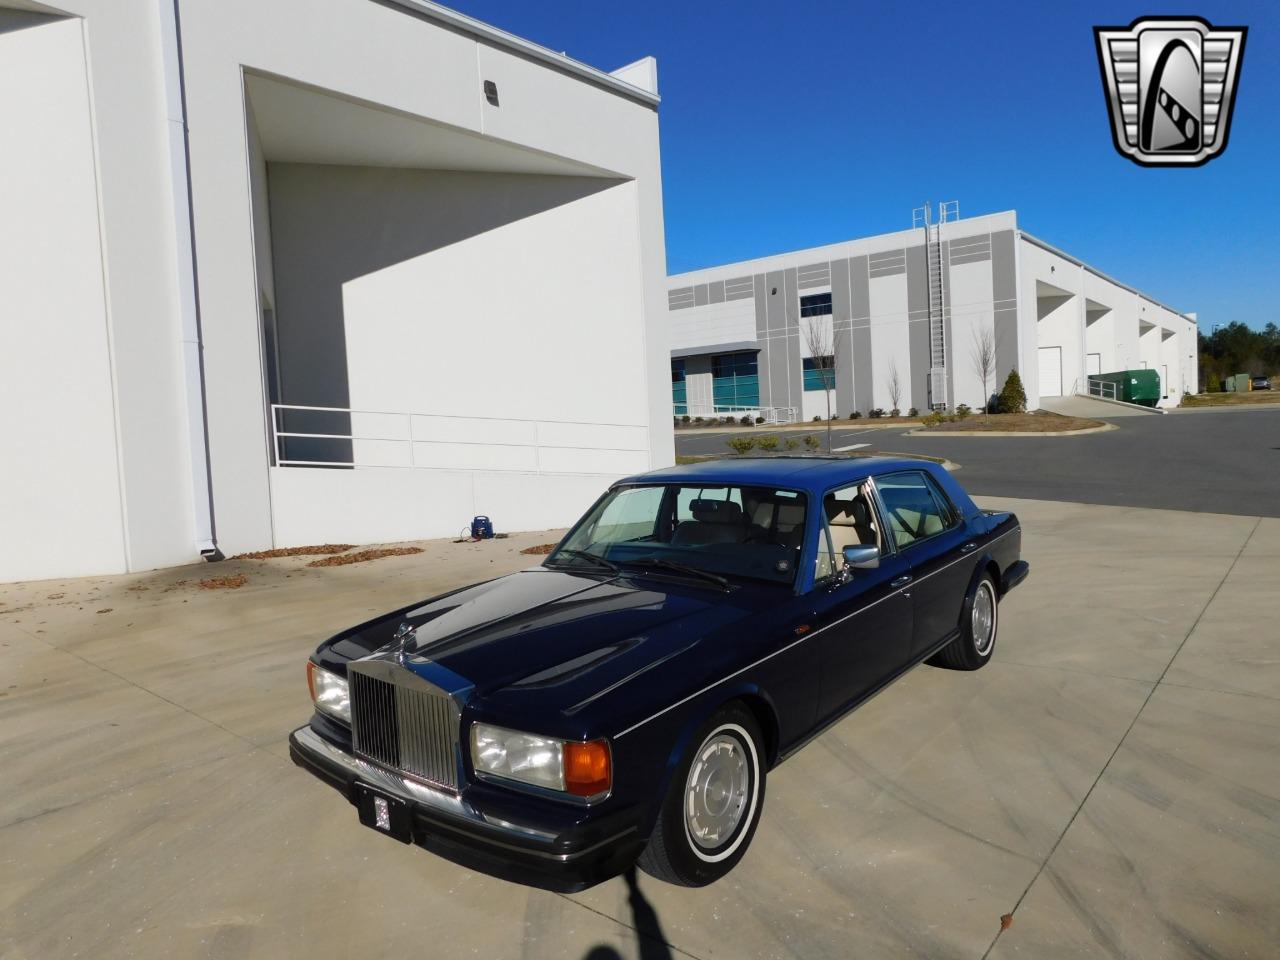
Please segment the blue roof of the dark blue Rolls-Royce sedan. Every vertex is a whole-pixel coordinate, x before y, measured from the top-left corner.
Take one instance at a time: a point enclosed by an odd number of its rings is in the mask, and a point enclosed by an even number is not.
[[[931,461],[908,457],[732,457],[652,470],[618,483],[737,484],[822,493],[837,484],[855,484],[869,476],[931,467],[936,467]]]

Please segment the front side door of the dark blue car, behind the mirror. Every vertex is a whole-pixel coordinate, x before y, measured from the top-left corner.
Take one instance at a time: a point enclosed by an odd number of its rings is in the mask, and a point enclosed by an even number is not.
[[[861,524],[844,524],[856,504]],[[856,532],[855,532],[856,531]],[[810,593],[818,637],[822,681],[818,718],[829,719],[896,675],[910,658],[911,598],[906,561],[896,552],[872,570],[844,570],[846,543],[883,544],[864,485],[828,492],[818,524],[817,568]]]

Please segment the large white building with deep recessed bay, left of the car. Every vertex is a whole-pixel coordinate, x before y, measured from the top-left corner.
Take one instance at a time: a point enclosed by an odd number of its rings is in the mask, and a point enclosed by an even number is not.
[[[671,463],[657,105],[421,0],[0,0],[0,581]]]

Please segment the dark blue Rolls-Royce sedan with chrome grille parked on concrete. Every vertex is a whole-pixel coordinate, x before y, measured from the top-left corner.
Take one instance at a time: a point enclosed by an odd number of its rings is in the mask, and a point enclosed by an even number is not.
[[[634,476],[541,566],[323,643],[291,754],[369,827],[509,879],[701,886],[790,754],[920,662],[991,659],[1020,548],[923,461]]]

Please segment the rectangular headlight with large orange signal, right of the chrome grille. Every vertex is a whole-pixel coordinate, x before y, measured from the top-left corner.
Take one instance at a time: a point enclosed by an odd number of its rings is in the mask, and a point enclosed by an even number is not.
[[[489,723],[471,726],[471,765],[477,773],[581,797],[607,794],[612,785],[603,740],[566,742]]]

